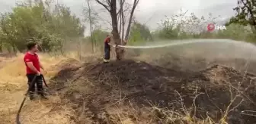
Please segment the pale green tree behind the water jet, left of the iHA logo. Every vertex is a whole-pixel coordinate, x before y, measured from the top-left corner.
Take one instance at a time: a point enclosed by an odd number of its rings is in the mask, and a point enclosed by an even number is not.
[[[187,11],[181,10],[180,14],[166,17],[158,23],[158,29],[152,33],[154,39],[198,39],[212,37],[214,33],[206,30],[207,23],[216,23],[218,17],[197,17],[194,13],[186,15]]]

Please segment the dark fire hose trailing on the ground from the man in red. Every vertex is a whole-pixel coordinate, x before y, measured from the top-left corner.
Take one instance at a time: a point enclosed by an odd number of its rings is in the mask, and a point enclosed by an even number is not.
[[[46,84],[46,81],[45,81],[43,75],[40,75],[40,76],[41,76],[42,79],[43,79],[44,85],[46,86],[46,88],[48,88],[48,85]],[[17,123],[17,124],[21,124],[21,122],[20,122],[20,113],[21,113],[22,107],[23,107],[23,105],[24,105],[24,103],[25,103],[25,101],[26,101],[26,99],[27,99],[27,95],[29,94],[30,89],[31,89],[32,86],[35,85],[35,83],[36,83],[36,82],[35,82],[36,79],[37,79],[37,76],[34,76],[34,78],[32,79],[32,81],[31,81],[30,84],[29,84],[29,87],[28,87],[28,89],[27,89],[27,92],[26,92],[26,94],[25,94],[24,99],[23,99],[23,101],[21,102],[21,106],[20,106],[20,108],[19,108],[19,110],[18,110],[18,113],[17,113],[17,116],[16,116],[16,123]]]

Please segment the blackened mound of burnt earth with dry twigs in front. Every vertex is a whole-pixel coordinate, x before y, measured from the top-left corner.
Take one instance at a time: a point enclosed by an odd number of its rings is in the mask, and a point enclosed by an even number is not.
[[[189,73],[120,60],[63,69],[52,81],[52,87],[69,100],[63,103],[75,110],[76,123],[122,123],[120,113],[130,123],[191,123],[175,118],[188,113],[198,120],[210,116],[215,122],[256,122],[248,113],[256,110],[255,82],[229,67]],[[172,113],[147,109],[152,106]]]

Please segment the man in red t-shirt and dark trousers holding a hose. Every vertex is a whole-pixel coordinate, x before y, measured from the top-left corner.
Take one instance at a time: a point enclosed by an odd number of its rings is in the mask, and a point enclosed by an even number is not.
[[[28,79],[28,88],[30,88],[30,100],[34,100],[34,92],[35,92],[35,84],[37,84],[37,93],[40,95],[41,98],[47,99],[43,95],[43,79],[40,73],[40,68],[43,69],[42,64],[40,64],[38,55],[37,55],[37,43],[35,42],[29,42],[27,44],[27,53],[24,56],[24,62],[26,64],[26,70],[27,70],[27,79]],[[44,70],[44,69],[43,69]],[[36,77],[34,80],[35,83],[32,85],[32,80]],[[31,85],[31,86],[30,86]]]

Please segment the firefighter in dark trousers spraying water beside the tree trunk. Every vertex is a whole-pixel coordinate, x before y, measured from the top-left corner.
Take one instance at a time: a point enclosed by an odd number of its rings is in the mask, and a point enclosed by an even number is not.
[[[110,62],[110,46],[113,46],[114,48],[117,47],[117,45],[110,45],[110,35],[107,35],[107,38],[104,40],[104,63],[105,64]]]

